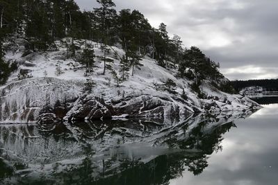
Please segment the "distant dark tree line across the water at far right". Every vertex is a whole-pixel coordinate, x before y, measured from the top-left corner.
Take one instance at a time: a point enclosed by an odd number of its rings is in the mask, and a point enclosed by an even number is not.
[[[235,80],[231,81],[236,91],[240,91],[245,87],[259,86],[263,87],[266,91],[278,91],[278,79],[265,79],[265,80]]]

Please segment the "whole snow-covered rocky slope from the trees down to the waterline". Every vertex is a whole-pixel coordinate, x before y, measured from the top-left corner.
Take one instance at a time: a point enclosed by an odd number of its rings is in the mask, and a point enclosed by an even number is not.
[[[206,98],[200,99],[190,88],[193,82],[176,77],[177,69],[164,69],[149,58],[143,58],[141,69],[136,69],[134,76],[129,71],[129,80],[118,86],[111,71],[106,70],[106,74],[101,75],[104,63],[99,58],[103,53],[95,43],[90,43],[97,56],[94,71],[84,77],[85,68],[65,57],[65,43],[56,44],[58,51],[22,55],[23,51],[18,49],[6,54],[6,60],[16,61],[19,69],[0,87],[0,123],[54,123],[62,119],[84,121],[119,117],[170,119],[199,112],[218,114],[260,107],[243,96],[218,91],[209,82],[203,82],[201,91]],[[81,50],[88,46],[85,40],[75,44]],[[120,76],[120,60],[114,52],[121,56],[124,51],[111,47],[108,55],[113,60],[109,64]],[[18,77],[22,75],[26,79]],[[84,90],[88,79],[95,82],[90,93]],[[167,89],[167,80],[175,84],[171,90]]]

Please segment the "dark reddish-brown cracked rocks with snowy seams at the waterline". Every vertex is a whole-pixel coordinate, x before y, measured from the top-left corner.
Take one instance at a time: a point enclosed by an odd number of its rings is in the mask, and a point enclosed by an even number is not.
[[[153,96],[129,96],[112,102],[106,103],[104,98],[95,96],[82,96],[67,108],[60,103],[56,103],[54,107],[49,107],[49,105],[44,107],[40,112],[38,121],[40,123],[48,123],[51,120],[55,122],[59,119],[64,121],[94,121],[122,115],[129,116],[129,118],[165,118],[167,116],[186,117],[193,114],[182,103]]]

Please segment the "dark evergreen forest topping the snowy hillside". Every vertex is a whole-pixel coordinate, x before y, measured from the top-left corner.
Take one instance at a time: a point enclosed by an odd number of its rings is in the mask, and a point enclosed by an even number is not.
[[[129,68],[133,76],[133,70],[142,65],[140,60],[144,55],[156,60],[161,67],[178,69],[179,77],[194,80],[197,86],[205,79],[223,78],[218,63],[195,46],[184,49],[181,37],[170,38],[165,24],[153,28],[138,10],[117,12],[111,0],[97,0],[97,3],[99,8],[81,11],[74,0],[0,0],[0,83],[3,84],[13,70],[11,64],[4,61],[3,42],[16,44],[18,38],[26,39],[26,50],[37,52],[54,49],[54,41],[69,37],[72,58],[76,55],[74,39],[97,42],[104,51],[103,74],[106,69],[113,73],[106,58],[108,46],[120,45],[126,54],[120,57],[122,75],[118,80],[127,79]],[[95,57],[93,51],[86,50],[82,61],[79,60],[89,72],[94,62],[92,57]]]

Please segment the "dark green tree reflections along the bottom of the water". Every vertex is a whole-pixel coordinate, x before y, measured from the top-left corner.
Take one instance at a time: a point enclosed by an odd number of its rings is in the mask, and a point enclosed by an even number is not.
[[[199,175],[208,166],[208,155],[221,150],[220,142],[222,134],[234,127],[234,123],[226,123],[215,127],[215,129],[204,134],[202,128],[204,123],[200,123],[190,132],[190,137],[185,141],[178,141],[178,145],[200,150],[188,154],[180,151],[169,155],[161,155],[149,161],[147,164],[140,160],[117,159],[117,155],[109,160],[103,161],[103,171],[97,171],[100,166],[95,166],[94,157],[87,148],[87,156],[79,168],[72,168],[60,174],[57,178],[63,177],[65,184],[168,184],[170,179],[181,177],[185,170],[193,175]],[[120,161],[120,166],[112,168],[113,164]],[[107,168],[107,170],[106,170]],[[98,176],[95,174],[99,173]]]

